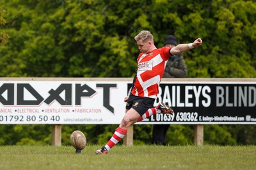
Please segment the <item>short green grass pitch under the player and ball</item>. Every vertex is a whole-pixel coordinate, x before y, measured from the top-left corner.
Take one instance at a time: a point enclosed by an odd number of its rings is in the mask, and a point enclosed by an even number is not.
[[[255,169],[256,146],[0,146],[0,169]]]

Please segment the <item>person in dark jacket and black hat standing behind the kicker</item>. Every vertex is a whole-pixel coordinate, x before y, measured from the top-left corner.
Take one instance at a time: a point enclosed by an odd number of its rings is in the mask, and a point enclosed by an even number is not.
[[[177,38],[173,35],[164,38],[164,46],[173,47],[177,45]],[[188,74],[188,69],[185,64],[182,53],[173,55],[169,58],[163,78],[184,78]],[[156,145],[166,145],[165,136],[170,124],[154,124],[152,131],[152,143]]]

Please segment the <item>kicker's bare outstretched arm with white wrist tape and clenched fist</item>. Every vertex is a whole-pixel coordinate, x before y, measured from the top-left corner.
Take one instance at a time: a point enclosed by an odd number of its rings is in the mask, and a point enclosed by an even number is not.
[[[203,41],[201,38],[196,39],[193,43],[189,44],[179,44],[171,49],[172,55],[176,55],[178,53],[187,52],[188,50],[198,47],[202,45]]]

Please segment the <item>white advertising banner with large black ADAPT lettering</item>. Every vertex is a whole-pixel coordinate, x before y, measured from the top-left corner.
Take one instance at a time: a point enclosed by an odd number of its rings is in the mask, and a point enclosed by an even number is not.
[[[125,89],[125,81],[0,81],[0,124],[119,124]]]

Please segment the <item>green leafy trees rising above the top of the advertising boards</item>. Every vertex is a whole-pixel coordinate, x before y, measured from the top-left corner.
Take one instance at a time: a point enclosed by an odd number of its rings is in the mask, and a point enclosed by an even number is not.
[[[253,1],[3,2],[17,21],[4,29],[12,39],[1,46],[1,76],[130,77],[138,55],[133,38],[142,29],[159,47],[166,34],[180,43],[203,39],[202,48],[184,53],[189,77],[256,74]]]

